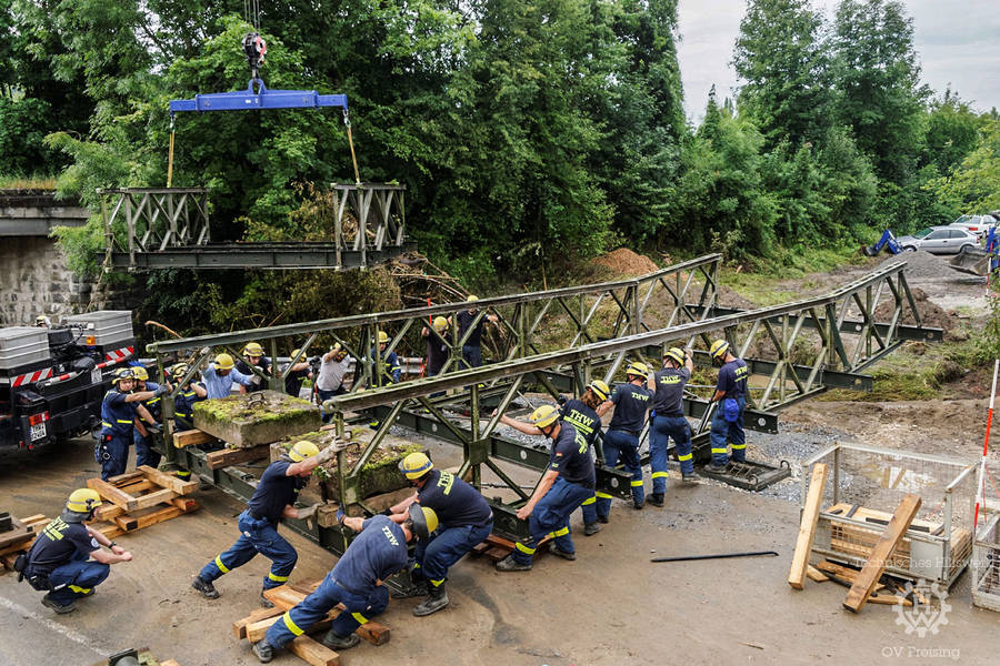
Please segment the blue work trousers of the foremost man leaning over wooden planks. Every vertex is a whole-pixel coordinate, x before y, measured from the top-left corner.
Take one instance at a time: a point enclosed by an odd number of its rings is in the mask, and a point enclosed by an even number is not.
[[[377,585],[368,592],[349,592],[337,583],[333,572],[330,572],[316,592],[268,628],[266,637],[268,644],[271,647],[284,647],[297,636],[308,632],[309,627],[322,619],[337,604],[343,604],[347,610],[337,616],[330,628],[343,638],[353,634],[354,629],[367,624],[372,617],[386,612],[389,607],[389,591],[384,585]]]

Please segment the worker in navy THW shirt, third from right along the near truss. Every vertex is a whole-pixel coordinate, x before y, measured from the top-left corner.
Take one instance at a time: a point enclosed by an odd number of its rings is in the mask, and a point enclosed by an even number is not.
[[[639,435],[646,425],[646,411],[649,408],[652,391],[646,387],[649,367],[646,363],[634,361],[626,369],[624,384],[618,384],[611,398],[598,407],[599,416],[603,416],[611,407],[614,415],[604,433],[604,464],[614,467],[619,460],[626,472],[632,475],[632,506],[642,508],[646,493],[642,488],[642,465],[639,464]],[[599,497],[598,516],[604,518],[611,512],[611,498]]]

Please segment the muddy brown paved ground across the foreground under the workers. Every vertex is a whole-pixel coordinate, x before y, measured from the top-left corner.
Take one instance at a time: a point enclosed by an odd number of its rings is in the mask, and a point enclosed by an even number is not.
[[[0,462],[0,509],[56,516],[69,492],[97,474],[84,441]],[[448,608],[414,618],[418,599],[392,602],[380,618],[391,642],[362,642],[342,663],[996,664],[1000,614],[971,607],[968,575],[952,591],[949,623],[937,635],[907,635],[894,608],[843,610],[847,591],[833,583],[789,588],[796,506],[714,484],[669,484],[667,507],[637,512],[617,503],[611,524],[596,536],[582,536],[578,513],[574,563],[547,556],[532,572],[501,574],[484,558],[462,561],[450,576]],[[88,665],[143,646],[181,666],[257,664],[246,642],[232,637],[231,624],[258,607],[268,563],[257,558],[226,575],[217,583],[220,599],[194,593],[192,576],[232,543],[242,509],[219,491],[197,497],[199,512],[119,537],[136,559],[114,565],[77,613],[57,616],[27,583],[0,576],[0,666]],[[327,552],[289,538],[299,551],[292,579],[321,577],[332,566]],[[744,549],[774,549],[781,557],[648,562]],[[302,662],[281,654],[273,663]]]

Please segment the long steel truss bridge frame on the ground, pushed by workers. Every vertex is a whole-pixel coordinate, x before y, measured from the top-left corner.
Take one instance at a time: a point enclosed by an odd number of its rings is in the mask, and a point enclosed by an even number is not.
[[[509,486],[512,501],[491,501],[497,532],[510,537],[524,535],[526,524],[516,518],[518,507],[528,493],[511,480],[502,465],[516,464],[541,472],[548,463],[548,446],[541,442],[524,444],[497,434],[499,417],[490,416],[510,406],[521,392],[531,387],[556,394],[579,394],[591,377],[611,380],[627,359],[659,359],[671,344],[700,341],[707,347],[713,337],[726,337],[750,365],[751,391],[747,426],[777,432],[777,413],[791,404],[814,396],[830,387],[870,390],[871,377],[861,374],[866,367],[890,353],[907,340],[942,339],[939,329],[923,326],[910,295],[904,269],[899,262],[882,266],[826,295],[749,311],[726,310],[717,305],[720,258],[708,255],[676,264],[656,273],[597,285],[568,287],[509,296],[482,299],[477,303],[479,316],[497,314],[502,333],[493,340],[493,355],[502,359],[478,369],[446,367],[434,377],[378,385],[370,363],[359,363],[352,390],[328,401],[339,427],[352,420],[364,422],[377,414],[380,425],[364,453],[350,470],[343,470],[339,483],[341,497],[348,505],[363,507],[359,495],[360,471],[392,425],[409,427],[424,435],[460,445],[463,453],[461,473],[469,474],[481,487],[484,465],[488,473]],[[884,304],[890,304],[886,306]],[[601,307],[601,305],[604,305]],[[879,307],[882,305],[882,307]],[[207,360],[216,352],[236,353],[242,343],[256,340],[270,347],[272,356],[296,339],[307,337],[300,356],[320,335],[348,345],[357,359],[364,350],[378,349],[378,332],[394,329],[384,353],[417,335],[419,325],[429,316],[446,315],[468,307],[449,303],[430,307],[374,313],[153,343],[162,366],[169,354],[209,347],[199,353]],[[878,312],[877,312],[878,311]],[[547,314],[561,313],[558,325]],[[903,325],[903,316],[912,312],[916,325]],[[551,346],[552,329],[562,349],[541,351],[546,340]],[[419,341],[419,339],[418,339]],[[463,340],[451,332],[452,349],[459,351]],[[558,346],[558,345],[557,345]],[[238,354],[237,354],[238,355]],[[460,357],[460,354],[453,354]],[[699,365],[708,365],[706,353],[696,353]],[[277,364],[276,364],[277,365]],[[656,363],[659,367],[659,363]],[[277,374],[266,377],[272,387],[282,381]],[[367,391],[359,391],[360,386]],[[431,397],[441,392],[454,395]],[[692,425],[696,456],[708,456],[707,437],[713,405],[708,402],[710,389],[694,387],[686,396],[686,413]],[[172,411],[172,401],[164,410]],[[643,440],[646,433],[643,433]],[[210,470],[204,454],[187,447],[166,452],[182,467],[197,471],[203,478],[243,498],[252,494],[252,475],[237,468]],[[754,463],[746,471],[720,478],[758,488],[787,475],[780,467]],[[598,488],[617,497],[629,494],[629,477],[623,472],[600,468]],[[333,528],[292,523],[311,538],[340,552],[343,535]]]

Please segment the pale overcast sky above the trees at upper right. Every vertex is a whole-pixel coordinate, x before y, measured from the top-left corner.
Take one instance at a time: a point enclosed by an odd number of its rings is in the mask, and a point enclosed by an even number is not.
[[[837,0],[813,0],[832,17]],[[980,111],[1000,108],[1000,0],[903,0],[923,81],[952,91]],[[714,83],[721,100],[739,85],[730,67],[746,0],[680,0],[678,44],[684,108],[700,119]]]

